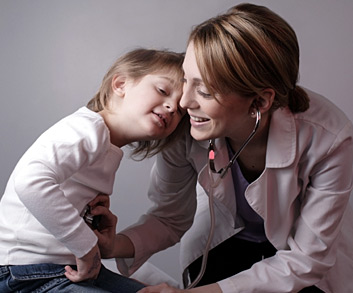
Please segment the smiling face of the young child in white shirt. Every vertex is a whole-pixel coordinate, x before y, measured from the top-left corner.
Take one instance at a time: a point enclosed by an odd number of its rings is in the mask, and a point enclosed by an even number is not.
[[[176,76],[164,71],[139,81],[115,81],[118,103],[109,107],[114,113],[110,128],[115,129],[120,145],[165,138],[175,130],[186,112],[179,105],[182,85]]]

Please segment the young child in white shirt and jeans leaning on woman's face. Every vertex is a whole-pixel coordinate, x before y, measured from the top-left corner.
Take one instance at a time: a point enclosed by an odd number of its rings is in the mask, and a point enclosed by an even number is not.
[[[168,51],[127,53],[87,107],[56,123],[23,155],[0,202],[1,292],[143,287],[101,268],[97,237],[82,216],[97,194],[112,193],[121,147],[137,142],[133,155],[144,158],[178,135],[182,62],[182,54]]]

